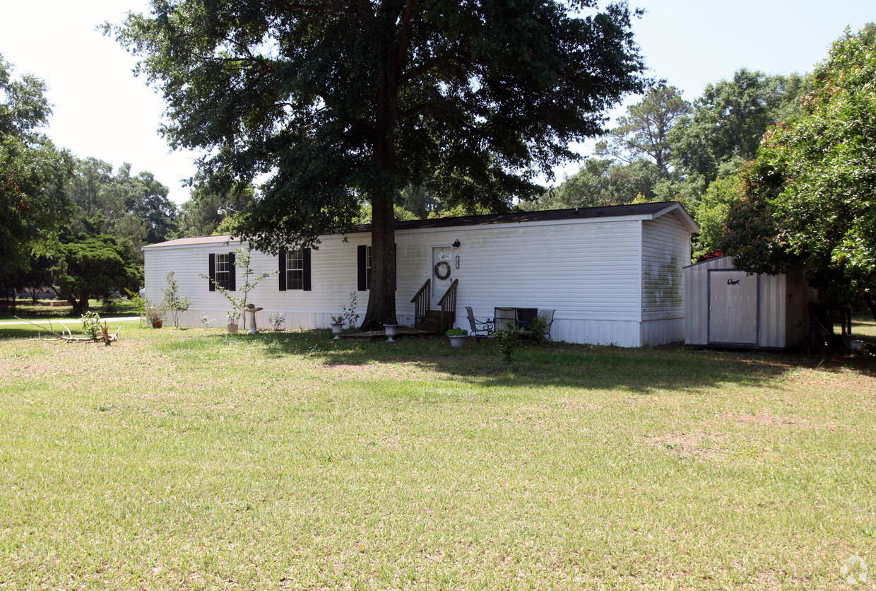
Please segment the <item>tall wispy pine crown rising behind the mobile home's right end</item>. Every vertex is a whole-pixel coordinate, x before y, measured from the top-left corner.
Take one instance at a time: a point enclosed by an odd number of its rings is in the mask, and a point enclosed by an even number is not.
[[[597,143],[597,156],[612,156],[627,164],[645,158],[653,160],[662,175],[668,174],[672,146],[668,132],[682,115],[690,112],[690,103],[675,86],[657,85],[645,97],[618,117],[618,126],[606,133],[608,139]]]

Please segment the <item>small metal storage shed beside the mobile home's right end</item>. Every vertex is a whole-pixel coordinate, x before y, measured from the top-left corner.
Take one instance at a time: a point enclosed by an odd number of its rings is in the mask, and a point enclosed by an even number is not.
[[[747,274],[731,257],[684,267],[684,344],[782,349],[808,334],[806,278]]]

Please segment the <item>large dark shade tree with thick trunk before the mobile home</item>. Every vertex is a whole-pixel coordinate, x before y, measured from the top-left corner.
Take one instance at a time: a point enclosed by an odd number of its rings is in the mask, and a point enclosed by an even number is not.
[[[231,186],[267,180],[240,236],[312,246],[371,203],[364,328],[394,323],[399,190],[505,210],[640,89],[631,12],[595,0],[175,0],[117,37],[163,91],[174,147]]]

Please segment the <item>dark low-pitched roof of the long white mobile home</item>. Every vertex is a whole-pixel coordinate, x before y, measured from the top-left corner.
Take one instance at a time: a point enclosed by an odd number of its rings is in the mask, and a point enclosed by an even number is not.
[[[606,205],[604,207],[576,207],[568,210],[515,211],[513,213],[494,213],[483,216],[435,217],[433,219],[415,219],[395,223],[396,230],[420,230],[431,228],[455,228],[468,225],[494,224],[527,224],[533,222],[553,222],[574,219],[632,217],[634,219],[654,219],[668,213],[675,213],[679,221],[691,232],[699,231],[699,226],[687,210],[677,201],[659,203],[632,203],[630,205]],[[371,224],[358,224],[350,230],[350,234],[370,232]],[[143,248],[164,246],[187,246],[211,244],[215,242],[239,242],[229,235],[200,236],[197,238],[182,238],[159,242]]]

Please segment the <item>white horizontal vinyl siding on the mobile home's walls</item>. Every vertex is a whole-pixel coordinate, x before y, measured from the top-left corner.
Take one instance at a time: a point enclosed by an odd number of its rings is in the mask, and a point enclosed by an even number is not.
[[[648,224],[663,218],[668,218],[668,224],[648,229]],[[643,246],[643,240],[660,245],[672,237],[682,245]],[[166,274],[173,270],[180,294],[192,304],[184,314],[185,324],[196,326],[204,315],[224,317],[230,304],[222,294],[202,288],[200,274],[207,269],[199,268],[201,260],[206,267],[207,253],[215,252],[217,246],[226,252],[239,246],[224,240],[208,237],[146,246],[146,295],[160,299]],[[650,344],[652,338],[643,337],[643,317],[675,315],[675,322],[682,317],[683,310],[675,312],[682,305],[675,294],[683,294],[683,288],[676,285],[674,274],[669,292],[672,302],[643,301],[660,295],[643,278],[645,271],[657,274],[677,264],[681,274],[687,263],[683,257],[685,252],[689,256],[689,233],[671,213],[644,221],[638,217],[581,218],[406,229],[397,230],[395,240],[396,309],[401,324],[413,324],[410,300],[431,276],[433,247],[449,246],[456,240],[460,246],[451,248],[450,262],[452,276],[459,281],[458,325],[467,327],[465,306],[471,306],[478,318],[492,317],[495,307],[550,309],[555,310],[551,334],[556,340],[639,346]],[[357,312],[364,316],[370,292],[357,291],[357,247],[370,243],[370,233],[364,232],[349,234],[347,242],[342,236],[322,236],[320,247],[311,253],[311,291],[279,291],[277,281],[268,278],[250,292],[249,302],[264,309],[258,312],[257,324],[266,325],[270,312],[284,312],[287,326],[328,327],[330,317],[350,302],[350,292],[357,293]],[[647,253],[648,248],[653,253]],[[252,253],[251,268],[252,277],[276,273],[276,258]],[[245,281],[243,273],[238,267],[238,291]],[[673,338],[677,330],[651,327],[647,331],[663,335],[653,338]]]

